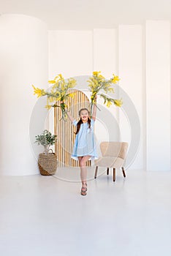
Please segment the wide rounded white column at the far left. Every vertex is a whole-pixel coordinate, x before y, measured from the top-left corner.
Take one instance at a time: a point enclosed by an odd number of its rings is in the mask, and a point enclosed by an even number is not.
[[[45,88],[48,79],[47,27],[41,20],[26,15],[1,15],[0,79],[0,174],[38,173],[29,124],[37,102],[31,84]],[[35,127],[42,124],[44,114],[42,108],[35,116]],[[36,129],[42,132],[39,127]]]

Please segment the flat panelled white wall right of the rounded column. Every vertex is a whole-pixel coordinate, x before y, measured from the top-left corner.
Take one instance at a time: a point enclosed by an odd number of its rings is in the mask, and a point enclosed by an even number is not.
[[[94,31],[50,31],[49,42],[50,78],[60,72],[66,78],[91,75],[92,70],[101,70],[107,78],[113,72],[120,76],[119,85],[140,118],[140,147],[130,168],[170,170],[170,23],[148,21],[146,30],[142,25],[120,25]],[[164,104],[159,104],[160,99]],[[98,102],[102,104],[102,99]],[[127,116],[115,107],[110,113],[119,124],[117,138],[130,145],[136,135]],[[101,140],[105,128],[98,125]],[[167,152],[161,158],[163,148]]]

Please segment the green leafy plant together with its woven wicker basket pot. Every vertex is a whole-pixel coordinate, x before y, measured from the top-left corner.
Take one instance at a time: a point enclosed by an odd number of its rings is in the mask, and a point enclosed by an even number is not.
[[[39,154],[38,159],[39,171],[44,176],[50,176],[56,173],[57,157],[50,148],[50,146],[56,143],[56,138],[57,136],[52,135],[47,129],[45,129],[41,135],[36,136],[35,143],[44,146],[44,151],[42,154]]]

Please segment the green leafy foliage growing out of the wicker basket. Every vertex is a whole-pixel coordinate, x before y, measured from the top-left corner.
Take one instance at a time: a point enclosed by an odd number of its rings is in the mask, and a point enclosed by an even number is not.
[[[52,135],[52,133],[47,131],[47,129],[45,129],[41,135],[37,135],[35,137],[35,143],[44,146],[43,153],[46,155],[49,153],[50,150],[52,150],[50,149],[50,146],[53,146],[57,141],[57,135]]]

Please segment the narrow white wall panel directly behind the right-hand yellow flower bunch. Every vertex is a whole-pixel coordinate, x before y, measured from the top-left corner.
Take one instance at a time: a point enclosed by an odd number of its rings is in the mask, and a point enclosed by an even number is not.
[[[94,71],[101,71],[105,78],[112,78],[113,73],[118,75],[118,30],[117,29],[94,29]],[[118,94],[109,94],[118,99]],[[102,106],[103,99],[98,98],[98,103]],[[102,108],[99,105],[99,108]],[[109,120],[104,122],[102,111],[109,111]],[[98,127],[98,140],[120,140],[118,127],[118,108],[114,105],[104,110],[97,110],[96,127]],[[106,115],[107,115],[106,112]],[[113,120],[111,120],[113,118]],[[113,125],[110,132],[110,126]]]

